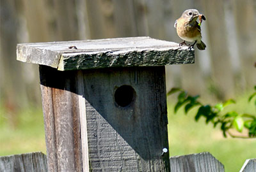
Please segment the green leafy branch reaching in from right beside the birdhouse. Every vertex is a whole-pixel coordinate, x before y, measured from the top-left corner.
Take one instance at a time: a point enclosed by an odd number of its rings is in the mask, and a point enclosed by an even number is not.
[[[248,101],[251,102],[254,100],[254,105],[256,106],[256,86],[254,87],[255,92],[249,97]],[[236,111],[228,111],[223,113],[223,110],[230,105],[235,104],[236,101],[229,99],[224,103],[217,103],[214,106],[210,104],[203,104],[198,101],[198,95],[191,96],[185,90],[180,88],[173,88],[168,92],[168,96],[179,92],[178,101],[175,104],[174,112],[184,106],[185,114],[189,110],[199,106],[197,113],[195,114],[195,120],[198,121],[201,117],[205,118],[205,123],[209,124],[211,122],[214,127],[220,125],[220,129],[223,132],[223,136],[227,137],[227,134],[233,138],[252,138],[256,137],[256,115],[246,114],[246,113],[237,113]],[[241,133],[243,130],[247,129],[248,136],[236,136],[230,133],[230,129],[236,129],[237,132]]]

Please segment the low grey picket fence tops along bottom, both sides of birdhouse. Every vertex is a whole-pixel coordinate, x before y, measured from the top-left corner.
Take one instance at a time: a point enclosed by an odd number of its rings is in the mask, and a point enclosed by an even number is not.
[[[225,172],[223,164],[209,152],[171,157],[170,166],[170,172]],[[47,172],[47,157],[42,152],[0,157],[0,171]],[[255,171],[256,159],[247,159],[239,172]]]

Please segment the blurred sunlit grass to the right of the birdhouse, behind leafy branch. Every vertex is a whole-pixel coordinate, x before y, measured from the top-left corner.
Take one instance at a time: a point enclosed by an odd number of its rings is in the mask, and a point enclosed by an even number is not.
[[[239,97],[227,110],[255,114],[248,95]],[[205,125],[204,118],[195,122],[196,109],[184,115],[181,108],[174,114],[175,99],[172,96],[168,101],[170,156],[210,152],[225,166],[226,172],[239,171],[246,159],[256,158],[256,139],[224,138],[220,126],[214,129],[212,124]]]

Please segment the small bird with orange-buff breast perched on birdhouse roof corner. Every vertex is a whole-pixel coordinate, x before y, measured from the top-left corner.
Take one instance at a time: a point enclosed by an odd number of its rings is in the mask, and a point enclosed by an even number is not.
[[[196,20],[199,17],[200,23]],[[186,45],[186,41],[194,42],[192,45],[189,45],[189,48],[193,48],[196,44],[196,47],[199,50],[205,50],[206,45],[201,40],[201,23],[202,19],[205,20],[204,15],[200,14],[196,9],[185,10],[181,17],[175,21],[174,27],[176,28],[178,36],[183,39],[179,46]]]

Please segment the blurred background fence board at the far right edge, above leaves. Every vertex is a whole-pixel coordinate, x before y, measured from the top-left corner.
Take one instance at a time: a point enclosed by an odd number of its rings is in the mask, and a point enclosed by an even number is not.
[[[253,0],[232,1],[234,8],[234,19],[236,24],[237,45],[239,60],[241,62],[242,86],[251,89],[256,83],[255,68],[253,66],[256,59],[255,49],[255,8]],[[241,13],[243,11],[243,13]],[[240,83],[240,84],[241,84]]]

